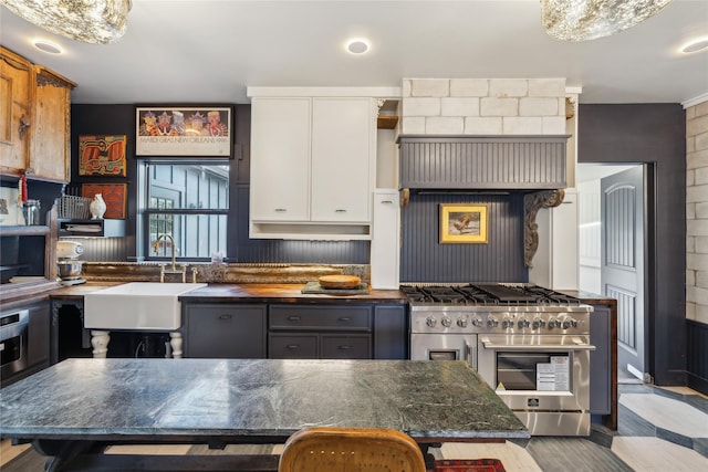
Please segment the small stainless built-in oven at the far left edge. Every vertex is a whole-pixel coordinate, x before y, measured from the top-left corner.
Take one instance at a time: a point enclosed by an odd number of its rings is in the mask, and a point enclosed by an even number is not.
[[[29,310],[0,314],[0,378],[27,368]]]

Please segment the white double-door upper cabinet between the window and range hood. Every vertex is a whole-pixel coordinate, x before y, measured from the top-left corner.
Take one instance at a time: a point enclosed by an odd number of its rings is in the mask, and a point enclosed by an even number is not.
[[[249,87],[251,238],[371,239],[382,99],[346,91]]]

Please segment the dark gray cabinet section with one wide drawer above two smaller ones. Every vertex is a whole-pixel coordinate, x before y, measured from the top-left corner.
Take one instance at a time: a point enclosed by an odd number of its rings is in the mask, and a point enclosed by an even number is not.
[[[268,357],[371,359],[372,317],[372,305],[270,305]]]

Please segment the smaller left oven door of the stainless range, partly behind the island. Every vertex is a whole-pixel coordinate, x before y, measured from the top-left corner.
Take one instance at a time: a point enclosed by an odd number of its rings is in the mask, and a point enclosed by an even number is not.
[[[477,368],[477,335],[413,333],[410,358],[413,360],[467,360]]]

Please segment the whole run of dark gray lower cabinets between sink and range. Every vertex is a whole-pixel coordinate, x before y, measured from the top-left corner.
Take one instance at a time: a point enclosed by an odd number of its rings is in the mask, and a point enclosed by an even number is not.
[[[183,303],[185,357],[406,359],[404,304]]]

